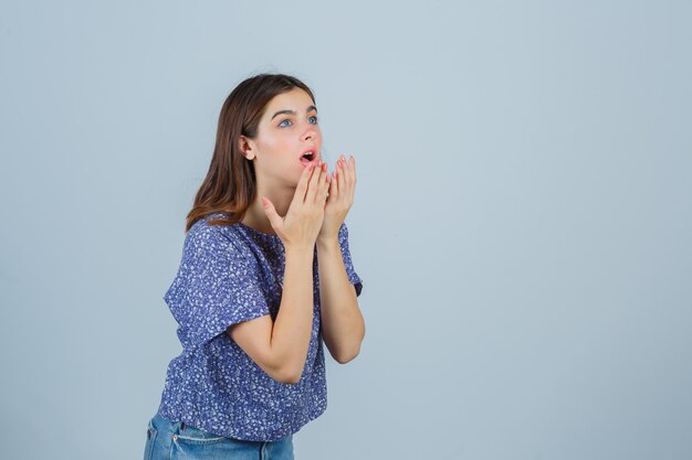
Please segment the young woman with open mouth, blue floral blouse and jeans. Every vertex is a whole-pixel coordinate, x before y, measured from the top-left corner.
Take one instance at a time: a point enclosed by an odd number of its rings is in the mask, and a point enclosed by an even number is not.
[[[328,172],[311,89],[243,81],[219,117],[211,165],[164,296],[182,353],[168,365],[145,460],[293,459],[293,434],[327,405],[323,342],[360,350],[363,282],[345,217],[356,167]]]

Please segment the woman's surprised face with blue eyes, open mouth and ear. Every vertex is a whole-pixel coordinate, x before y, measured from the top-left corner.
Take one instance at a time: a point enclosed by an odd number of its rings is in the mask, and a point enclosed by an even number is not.
[[[302,157],[313,150],[319,159],[322,131],[313,99],[301,88],[275,96],[266,105],[255,139],[248,139],[254,153],[258,179],[264,184],[295,186],[306,167]]]

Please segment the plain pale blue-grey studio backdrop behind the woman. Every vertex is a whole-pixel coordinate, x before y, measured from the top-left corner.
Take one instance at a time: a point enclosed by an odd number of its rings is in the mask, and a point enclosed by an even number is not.
[[[0,7],[0,458],[141,457],[219,110],[316,95],[360,355],[296,459],[692,458],[689,2]]]

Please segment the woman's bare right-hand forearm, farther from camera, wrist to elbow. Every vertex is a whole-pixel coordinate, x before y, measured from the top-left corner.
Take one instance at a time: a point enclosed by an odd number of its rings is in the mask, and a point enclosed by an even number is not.
[[[338,239],[317,239],[322,334],[334,359],[353,360],[360,351],[365,322],[348,280]]]

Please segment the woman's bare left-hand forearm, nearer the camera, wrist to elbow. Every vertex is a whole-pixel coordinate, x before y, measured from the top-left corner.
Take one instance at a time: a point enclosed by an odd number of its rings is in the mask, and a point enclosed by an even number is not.
[[[271,349],[289,375],[300,379],[313,329],[314,248],[286,247],[281,306]]]

